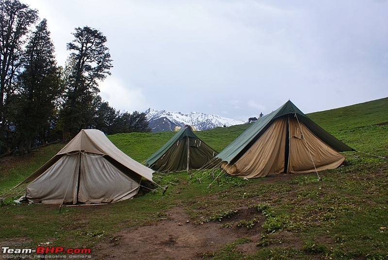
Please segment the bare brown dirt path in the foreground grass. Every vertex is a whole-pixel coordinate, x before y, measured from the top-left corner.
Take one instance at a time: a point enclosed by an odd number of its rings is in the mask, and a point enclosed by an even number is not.
[[[253,211],[252,211],[253,212]],[[251,210],[242,210],[241,215],[230,221],[238,221],[242,215],[251,214]],[[256,211],[257,212],[257,211]],[[258,250],[261,224],[247,230],[245,227],[222,228],[218,222],[194,225],[180,208],[167,212],[169,220],[156,225],[133,227],[114,234],[113,238],[96,247],[96,259],[200,259],[211,252],[221,249],[240,237],[252,240],[243,244],[241,250]],[[264,218],[260,220],[263,222]],[[249,252],[253,253],[253,252]]]

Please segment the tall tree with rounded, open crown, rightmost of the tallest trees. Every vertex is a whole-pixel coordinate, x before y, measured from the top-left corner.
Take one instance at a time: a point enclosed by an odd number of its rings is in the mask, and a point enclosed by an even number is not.
[[[97,29],[76,28],[74,40],[67,44],[73,51],[66,64],[66,95],[60,113],[63,142],[82,128],[93,124],[93,100],[99,92],[98,81],[111,75],[111,54],[106,37]]]

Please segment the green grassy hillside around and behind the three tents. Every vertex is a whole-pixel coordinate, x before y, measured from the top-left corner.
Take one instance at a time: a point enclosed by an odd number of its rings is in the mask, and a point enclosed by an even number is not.
[[[113,243],[115,232],[168,221],[169,212],[179,207],[193,223],[190,225],[205,223],[220,232],[230,230],[228,237],[234,239],[217,250],[197,248],[197,259],[388,259],[387,112],[388,98],[383,98],[308,114],[347,145],[367,153],[344,153],[347,166],[320,172],[323,181],[318,181],[316,174],[299,174],[248,181],[223,177],[219,183],[208,178],[199,183],[186,173],[177,173],[156,178],[170,184],[164,195],[159,190],[87,209],[64,208],[59,213],[58,205],[15,206],[7,200],[0,209],[0,241],[91,246],[98,256],[101,249],[96,245]],[[196,134],[221,151],[247,127]],[[143,162],[173,135],[129,133],[109,139]],[[61,147],[48,146],[24,158],[1,159],[0,192],[29,176]]]

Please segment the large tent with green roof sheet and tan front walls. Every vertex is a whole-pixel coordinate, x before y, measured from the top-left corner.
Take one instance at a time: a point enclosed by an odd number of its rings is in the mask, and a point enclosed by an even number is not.
[[[230,175],[259,178],[277,173],[308,173],[338,167],[351,151],[290,100],[262,116],[217,158]]]

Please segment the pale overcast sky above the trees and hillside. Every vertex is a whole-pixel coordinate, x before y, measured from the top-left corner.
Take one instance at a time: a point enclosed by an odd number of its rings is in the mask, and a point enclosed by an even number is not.
[[[59,65],[74,28],[108,39],[117,110],[247,120],[388,97],[388,1],[21,0],[48,20]]]

